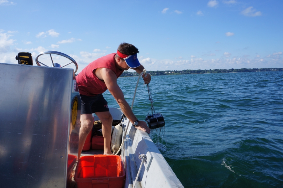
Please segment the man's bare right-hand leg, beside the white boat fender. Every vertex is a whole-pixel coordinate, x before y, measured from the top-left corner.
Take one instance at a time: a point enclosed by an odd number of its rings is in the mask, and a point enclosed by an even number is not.
[[[110,150],[111,130],[113,118],[110,112],[95,112],[102,122],[102,134],[104,138],[104,155],[113,155]]]

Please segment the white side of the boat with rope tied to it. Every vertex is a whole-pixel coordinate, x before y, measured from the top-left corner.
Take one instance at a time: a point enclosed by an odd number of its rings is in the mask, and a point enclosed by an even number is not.
[[[110,113],[113,119],[120,119],[122,116],[119,108],[110,108]],[[122,121],[123,137],[127,123],[128,119],[124,118]],[[147,159],[141,167],[136,188],[183,187],[149,135],[133,127],[132,123],[129,123],[129,126],[121,149],[121,157],[126,171],[124,188],[133,187],[142,162],[139,159],[140,154],[146,154]]]

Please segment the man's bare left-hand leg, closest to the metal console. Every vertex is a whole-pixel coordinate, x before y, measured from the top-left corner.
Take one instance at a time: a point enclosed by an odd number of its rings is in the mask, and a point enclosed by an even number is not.
[[[81,156],[81,151],[82,148],[84,147],[86,137],[88,133],[92,130],[92,127],[93,127],[92,114],[81,114],[81,128],[80,128],[79,154],[78,154],[79,158]],[[109,144],[109,148],[110,148],[110,144]]]

